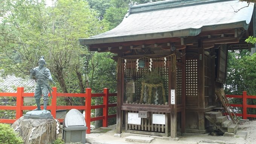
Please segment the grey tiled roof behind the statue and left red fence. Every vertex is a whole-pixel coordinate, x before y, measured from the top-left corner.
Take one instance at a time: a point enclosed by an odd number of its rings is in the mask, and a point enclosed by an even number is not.
[[[34,92],[35,80],[16,77],[14,75],[1,76],[0,74],[0,92],[16,92],[17,87],[24,87],[24,92]]]

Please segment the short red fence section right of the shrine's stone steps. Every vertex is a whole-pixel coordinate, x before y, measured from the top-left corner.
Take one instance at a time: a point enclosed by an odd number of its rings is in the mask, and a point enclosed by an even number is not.
[[[240,116],[243,119],[247,119],[247,117],[256,118],[255,114],[254,115],[253,114],[247,114],[247,108],[256,108],[256,105],[247,105],[247,99],[256,99],[256,95],[247,95],[247,92],[243,91],[243,95],[226,95],[226,97],[242,99],[242,104],[230,104],[230,106],[233,106],[233,107],[242,107],[243,113],[242,114],[236,114],[237,116]]]

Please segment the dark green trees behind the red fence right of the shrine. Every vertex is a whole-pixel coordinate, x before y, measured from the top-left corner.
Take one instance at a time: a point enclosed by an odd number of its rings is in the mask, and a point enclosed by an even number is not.
[[[226,94],[256,95],[256,53],[250,56],[248,50],[229,52],[227,64],[227,78],[225,83]],[[229,99],[230,103],[242,104],[242,99]],[[248,105],[255,105],[256,100],[248,99]],[[242,113],[242,108],[236,109]],[[247,114],[256,114],[255,109],[248,108]]]

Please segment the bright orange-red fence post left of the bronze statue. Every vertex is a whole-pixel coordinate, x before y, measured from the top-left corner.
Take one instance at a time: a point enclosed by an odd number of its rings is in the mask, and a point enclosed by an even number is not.
[[[21,110],[21,106],[23,106],[23,97],[22,93],[24,93],[24,88],[23,87],[18,87],[17,88],[17,100],[16,100],[16,120],[22,117],[23,115],[23,110]]]

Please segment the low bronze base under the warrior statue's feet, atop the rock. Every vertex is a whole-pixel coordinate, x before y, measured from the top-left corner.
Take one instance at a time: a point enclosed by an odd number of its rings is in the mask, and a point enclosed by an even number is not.
[[[53,119],[52,114],[49,111],[42,113],[43,111],[29,111],[24,114],[24,119]]]

